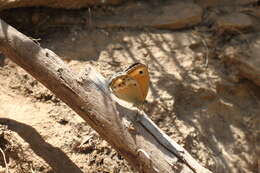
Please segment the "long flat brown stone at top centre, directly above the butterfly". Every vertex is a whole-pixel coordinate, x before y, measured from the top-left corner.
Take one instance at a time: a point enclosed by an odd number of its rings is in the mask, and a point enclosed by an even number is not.
[[[171,1],[156,8],[149,6],[149,4],[139,4],[125,9],[124,14],[97,17],[94,19],[95,25],[99,28],[182,29],[198,25],[202,20],[203,10],[194,3]]]

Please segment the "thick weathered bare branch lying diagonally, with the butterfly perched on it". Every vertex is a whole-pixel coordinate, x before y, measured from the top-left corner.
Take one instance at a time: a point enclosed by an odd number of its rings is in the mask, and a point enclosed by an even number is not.
[[[134,131],[129,130],[136,110],[115,103],[106,80],[93,68],[87,67],[79,77],[56,54],[0,22],[0,50],[72,108],[139,172],[210,173],[145,115],[133,122]]]

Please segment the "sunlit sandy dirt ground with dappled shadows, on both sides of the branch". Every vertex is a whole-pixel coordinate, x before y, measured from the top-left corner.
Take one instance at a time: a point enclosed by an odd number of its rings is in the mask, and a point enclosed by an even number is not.
[[[40,34],[21,30],[35,39],[38,34],[39,44],[76,72],[91,64],[109,78],[133,62],[147,64],[151,84],[145,112],[164,132],[213,172],[259,172],[260,87],[220,58],[229,44],[226,34],[206,32],[205,26],[171,31],[74,24]],[[76,113],[8,59],[0,67],[0,147],[10,173],[135,172]],[[4,168],[1,155],[0,172]]]

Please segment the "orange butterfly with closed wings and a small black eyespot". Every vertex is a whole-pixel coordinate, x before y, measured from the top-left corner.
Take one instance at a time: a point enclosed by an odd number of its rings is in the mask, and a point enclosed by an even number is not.
[[[133,104],[143,105],[149,90],[148,67],[134,63],[123,72],[116,73],[109,81],[112,93],[119,99]]]

